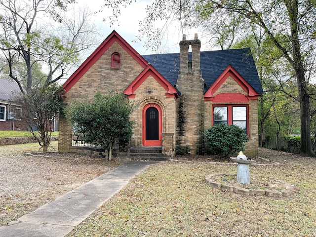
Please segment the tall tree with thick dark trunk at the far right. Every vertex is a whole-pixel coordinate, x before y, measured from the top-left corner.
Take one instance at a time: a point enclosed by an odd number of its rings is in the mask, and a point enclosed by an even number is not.
[[[303,156],[315,156],[311,143],[310,95],[305,77],[307,50],[314,50],[316,35],[316,2],[309,0],[209,0],[198,4],[201,16],[209,17],[212,12],[223,14],[237,12],[245,20],[264,29],[276,48],[291,65],[295,75],[300,102],[301,148]],[[290,72],[291,73],[291,72]]]

